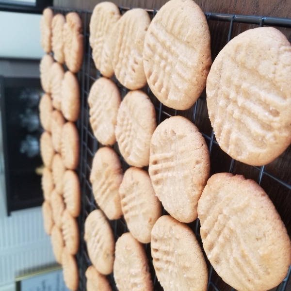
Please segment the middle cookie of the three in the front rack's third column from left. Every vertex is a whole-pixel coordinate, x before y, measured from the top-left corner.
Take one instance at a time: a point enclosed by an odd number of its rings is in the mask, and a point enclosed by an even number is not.
[[[210,173],[206,142],[182,116],[163,121],[151,139],[148,173],[163,207],[181,222],[197,218],[197,204]]]

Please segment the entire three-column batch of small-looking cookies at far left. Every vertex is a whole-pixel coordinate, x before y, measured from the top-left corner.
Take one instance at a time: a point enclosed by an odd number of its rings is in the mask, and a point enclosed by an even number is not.
[[[73,122],[80,113],[80,88],[74,73],[80,70],[83,58],[82,23],[77,13],[53,16],[47,8],[40,26],[41,45],[47,53],[40,63],[41,84],[46,94],[39,106],[40,120],[46,130],[41,136],[41,154],[46,166],[42,178],[46,199],[44,223],[51,234],[56,260],[62,263],[65,284],[70,290],[77,290],[79,272],[74,255],[79,249],[76,217],[81,209],[81,189],[73,171],[79,163],[79,135]],[[64,62],[69,69],[66,72]]]

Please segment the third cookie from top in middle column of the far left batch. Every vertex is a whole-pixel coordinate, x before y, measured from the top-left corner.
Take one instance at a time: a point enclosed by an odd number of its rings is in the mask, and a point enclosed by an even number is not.
[[[62,147],[62,131],[65,124],[65,118],[63,114],[54,110],[51,114],[50,128],[51,128],[51,140],[54,150],[61,152]]]

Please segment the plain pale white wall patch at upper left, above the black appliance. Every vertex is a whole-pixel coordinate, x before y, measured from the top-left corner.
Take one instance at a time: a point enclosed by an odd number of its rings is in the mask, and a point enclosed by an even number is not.
[[[0,11],[0,57],[40,59],[41,15]]]

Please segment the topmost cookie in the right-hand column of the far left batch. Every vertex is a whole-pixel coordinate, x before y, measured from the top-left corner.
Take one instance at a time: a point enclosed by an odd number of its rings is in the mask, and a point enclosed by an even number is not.
[[[68,13],[65,19],[63,31],[65,64],[71,72],[77,73],[82,65],[84,51],[82,21],[76,12]]]

